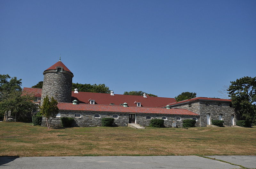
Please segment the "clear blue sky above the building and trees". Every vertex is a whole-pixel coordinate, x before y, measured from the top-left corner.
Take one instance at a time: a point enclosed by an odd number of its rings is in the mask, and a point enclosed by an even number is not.
[[[255,0],[0,0],[0,74],[31,87],[61,54],[73,82],[115,94],[220,97],[256,76],[255,9]]]

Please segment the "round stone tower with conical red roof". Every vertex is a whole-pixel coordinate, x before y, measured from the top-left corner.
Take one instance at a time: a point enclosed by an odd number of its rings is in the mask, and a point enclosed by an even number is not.
[[[58,102],[71,102],[73,73],[61,62],[58,61],[44,71],[44,82],[42,89],[43,98],[53,96]]]

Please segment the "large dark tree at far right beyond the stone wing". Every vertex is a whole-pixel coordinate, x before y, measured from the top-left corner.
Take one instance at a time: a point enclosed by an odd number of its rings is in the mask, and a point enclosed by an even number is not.
[[[242,118],[250,122],[256,121],[256,77],[243,77],[230,81],[228,88],[232,106]]]

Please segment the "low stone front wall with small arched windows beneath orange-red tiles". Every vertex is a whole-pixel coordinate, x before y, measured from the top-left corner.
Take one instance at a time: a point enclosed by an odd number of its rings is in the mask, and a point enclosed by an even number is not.
[[[75,113],[80,113],[81,117],[75,117]],[[114,114],[118,115],[118,118],[114,120],[114,126],[127,126],[129,123],[129,113],[113,113],[113,112],[85,112],[85,111],[60,111],[61,117],[73,117],[75,122],[73,126],[75,127],[98,127],[102,126],[101,118],[110,117],[112,118]],[[94,118],[94,114],[100,114],[100,118]],[[185,119],[193,119],[196,117],[198,121],[196,122],[196,126],[199,125],[199,116],[181,116],[181,115],[159,115],[159,114],[136,114],[136,123],[142,126],[148,126],[150,123],[150,119],[146,119],[146,116],[151,116],[151,119],[162,119],[162,116],[166,116],[166,120],[164,120],[165,127],[172,127],[172,123],[176,123],[177,127],[182,127],[182,120]],[[181,117],[181,121],[177,121],[176,117]],[[43,117],[42,126],[46,125],[46,119]],[[51,122],[52,127],[60,127],[60,117],[56,117],[52,119]]]

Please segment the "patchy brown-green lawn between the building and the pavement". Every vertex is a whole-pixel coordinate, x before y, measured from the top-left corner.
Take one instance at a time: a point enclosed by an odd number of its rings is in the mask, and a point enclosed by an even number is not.
[[[256,128],[73,127],[0,123],[0,156],[256,155]]]

